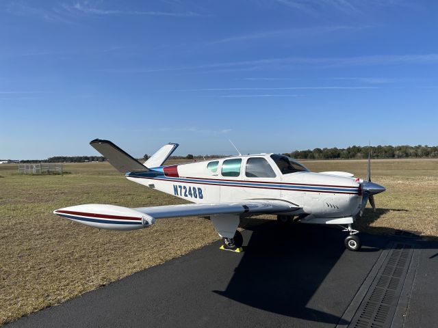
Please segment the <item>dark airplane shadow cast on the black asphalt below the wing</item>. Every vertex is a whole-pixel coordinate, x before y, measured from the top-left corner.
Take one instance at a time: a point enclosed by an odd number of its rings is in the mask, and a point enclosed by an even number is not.
[[[333,309],[337,306],[335,312],[338,312],[339,316],[314,310],[307,304],[321,284],[325,283],[324,279],[333,270],[339,258],[344,252],[349,252],[344,247],[347,234],[328,227],[292,224],[283,228],[274,220],[263,221],[264,223],[253,227],[246,227],[246,230],[252,230],[252,234],[244,247],[244,256],[235,269],[227,289],[214,292],[251,307],[284,316],[320,323],[346,324],[345,320],[340,318],[343,310],[339,310],[341,305],[336,305],[339,301],[336,298],[342,298],[344,288],[359,288],[361,282],[356,282],[355,287],[338,281],[333,288],[339,290],[326,295],[326,299],[318,296],[318,307]],[[381,249],[382,243],[372,244],[368,242],[367,247],[361,251],[370,255],[370,251]],[[348,271],[348,267],[341,270]],[[354,272],[351,275],[354,275]],[[350,279],[354,281],[355,277]],[[345,308],[347,305],[348,303]]]

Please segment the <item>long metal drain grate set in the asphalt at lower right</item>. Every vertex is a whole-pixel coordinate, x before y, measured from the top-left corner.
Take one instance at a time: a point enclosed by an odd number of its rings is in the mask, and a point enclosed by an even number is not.
[[[412,254],[412,245],[394,245],[348,327],[385,328],[391,325]]]

